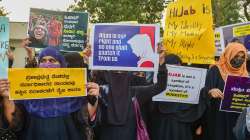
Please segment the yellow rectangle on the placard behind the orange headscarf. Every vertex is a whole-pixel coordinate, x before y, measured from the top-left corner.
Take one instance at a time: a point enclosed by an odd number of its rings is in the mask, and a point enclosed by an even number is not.
[[[233,36],[241,37],[250,35],[250,25],[242,25],[233,28]]]

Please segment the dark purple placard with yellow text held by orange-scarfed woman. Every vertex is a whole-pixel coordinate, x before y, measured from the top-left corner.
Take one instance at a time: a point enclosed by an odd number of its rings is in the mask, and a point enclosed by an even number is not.
[[[223,93],[220,110],[241,113],[246,107],[250,107],[250,77],[229,75]]]

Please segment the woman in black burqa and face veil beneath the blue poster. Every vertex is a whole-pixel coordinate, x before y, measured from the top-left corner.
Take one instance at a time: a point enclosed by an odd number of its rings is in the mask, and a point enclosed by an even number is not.
[[[167,71],[160,55],[158,82],[148,86],[131,86],[128,72],[106,72],[107,85],[103,86],[102,117],[99,140],[136,140],[136,118],[132,97],[136,96],[140,107],[166,88]]]

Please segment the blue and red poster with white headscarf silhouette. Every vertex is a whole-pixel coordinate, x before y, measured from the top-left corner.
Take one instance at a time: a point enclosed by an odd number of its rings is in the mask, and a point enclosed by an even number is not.
[[[159,39],[157,24],[95,24],[90,69],[156,71]]]

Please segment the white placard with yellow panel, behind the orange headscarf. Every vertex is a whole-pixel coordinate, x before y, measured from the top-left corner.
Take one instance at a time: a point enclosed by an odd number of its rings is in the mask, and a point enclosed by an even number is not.
[[[250,50],[250,22],[232,24],[221,27],[221,44],[226,47],[229,42],[237,41]]]

